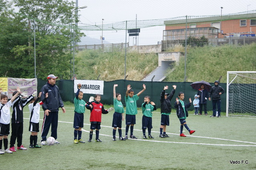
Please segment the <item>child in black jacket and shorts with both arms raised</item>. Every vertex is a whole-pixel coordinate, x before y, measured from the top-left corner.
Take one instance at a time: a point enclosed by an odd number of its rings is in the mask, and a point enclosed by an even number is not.
[[[170,95],[165,92],[168,89],[168,86],[163,87],[163,91],[160,97],[161,103],[161,125],[160,125],[160,138],[169,137],[166,134],[166,126],[169,126],[169,115],[171,114],[171,99],[175,93],[176,85],[173,85],[173,90],[171,91]],[[169,95],[169,96],[168,96]]]

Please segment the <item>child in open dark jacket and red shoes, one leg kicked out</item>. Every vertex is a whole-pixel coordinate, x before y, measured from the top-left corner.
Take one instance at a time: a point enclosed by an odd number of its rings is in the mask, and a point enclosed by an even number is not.
[[[189,134],[192,134],[192,133],[196,132],[196,130],[190,130],[189,127],[187,127],[187,123],[185,121],[185,119],[188,117],[187,108],[190,107],[192,101],[191,101],[191,98],[189,98],[189,103],[185,103],[185,101],[184,101],[185,96],[184,96],[183,92],[179,92],[178,97],[179,97],[179,99],[176,98],[176,102],[174,103],[174,107],[176,108],[176,114],[177,114],[177,117],[179,118],[179,121],[180,121],[180,134],[179,134],[179,136],[186,137],[186,135],[182,133],[183,126],[185,126],[185,128],[189,131]]]

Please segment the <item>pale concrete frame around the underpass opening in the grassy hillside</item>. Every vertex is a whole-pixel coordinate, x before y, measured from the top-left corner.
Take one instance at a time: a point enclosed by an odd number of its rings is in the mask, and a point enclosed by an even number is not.
[[[180,57],[183,56],[183,52],[160,52],[158,53],[158,67],[161,67],[161,61],[176,61],[178,65]]]

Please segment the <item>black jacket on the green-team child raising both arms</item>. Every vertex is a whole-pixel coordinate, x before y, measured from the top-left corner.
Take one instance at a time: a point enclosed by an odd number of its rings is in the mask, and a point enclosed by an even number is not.
[[[164,98],[165,96],[165,90],[162,91],[161,97],[160,97],[160,103],[161,103],[161,113],[171,113],[171,99],[175,93],[175,90],[173,89],[169,96],[167,96],[167,99]]]

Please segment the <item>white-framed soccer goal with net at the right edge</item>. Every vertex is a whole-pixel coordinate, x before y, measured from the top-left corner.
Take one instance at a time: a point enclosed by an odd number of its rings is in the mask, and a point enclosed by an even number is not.
[[[256,71],[228,71],[226,94],[226,116],[256,116]]]

